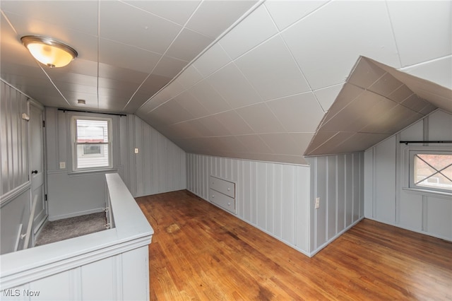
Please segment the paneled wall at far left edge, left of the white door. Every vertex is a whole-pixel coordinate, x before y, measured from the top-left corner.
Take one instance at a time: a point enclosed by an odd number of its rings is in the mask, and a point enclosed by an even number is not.
[[[0,81],[0,254],[13,252],[30,216],[28,98]],[[21,225],[21,232],[20,231]],[[20,240],[18,249],[22,249]]]

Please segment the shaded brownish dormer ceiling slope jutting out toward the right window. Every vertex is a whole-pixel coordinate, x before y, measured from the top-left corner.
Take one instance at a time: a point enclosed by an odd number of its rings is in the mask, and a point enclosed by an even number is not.
[[[330,110],[325,114],[306,155],[362,151],[436,110],[407,85],[361,58]],[[394,71],[385,67],[388,71]],[[412,76],[407,76],[411,78]],[[445,102],[442,107],[450,107]]]

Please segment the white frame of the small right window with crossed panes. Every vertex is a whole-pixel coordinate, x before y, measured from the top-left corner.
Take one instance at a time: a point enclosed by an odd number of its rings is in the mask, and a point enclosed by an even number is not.
[[[441,189],[436,187],[425,187],[416,184],[415,180],[415,155],[417,154],[432,154],[432,155],[452,155],[451,146],[410,146],[406,149],[405,170],[408,178],[405,189],[411,191],[419,191],[423,194],[449,195],[452,196],[452,191],[449,189]]]

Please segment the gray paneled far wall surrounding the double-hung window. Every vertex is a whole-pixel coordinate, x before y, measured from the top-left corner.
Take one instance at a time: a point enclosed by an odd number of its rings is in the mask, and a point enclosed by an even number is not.
[[[105,171],[71,170],[70,120],[73,114],[46,108],[47,196],[49,219],[57,220],[102,211]],[[99,115],[105,117],[105,115]],[[185,189],[185,152],[135,115],[112,116],[113,170],[133,196]],[[138,154],[134,153],[138,148]],[[60,168],[59,163],[66,167]]]

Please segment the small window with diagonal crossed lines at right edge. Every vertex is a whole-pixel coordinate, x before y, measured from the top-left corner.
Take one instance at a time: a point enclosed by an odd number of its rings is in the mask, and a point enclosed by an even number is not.
[[[410,151],[410,188],[452,192],[452,153]]]

